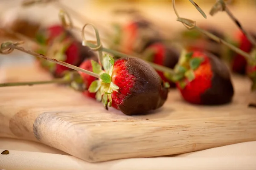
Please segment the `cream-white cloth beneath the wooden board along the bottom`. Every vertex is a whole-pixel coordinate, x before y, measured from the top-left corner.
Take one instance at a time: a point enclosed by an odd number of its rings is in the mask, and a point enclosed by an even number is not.
[[[177,156],[88,163],[54,148],[0,138],[0,169],[5,170],[256,170],[256,142],[244,142]]]

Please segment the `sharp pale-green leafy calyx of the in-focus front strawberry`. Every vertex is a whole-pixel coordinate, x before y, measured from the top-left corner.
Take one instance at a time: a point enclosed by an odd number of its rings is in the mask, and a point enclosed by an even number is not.
[[[113,91],[119,90],[119,87],[115,85],[112,79],[112,73],[114,68],[114,59],[108,54],[103,56],[103,70],[99,63],[91,60],[93,72],[99,74],[99,79],[91,83],[88,91],[90,93],[96,93],[96,100],[101,101],[106,109],[112,105],[111,94]]]

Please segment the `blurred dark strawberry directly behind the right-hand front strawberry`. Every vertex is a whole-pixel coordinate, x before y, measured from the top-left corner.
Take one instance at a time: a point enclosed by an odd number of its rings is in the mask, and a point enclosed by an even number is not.
[[[203,26],[205,30],[214,34],[217,37],[224,38],[222,32],[215,28],[209,28]],[[186,49],[188,51],[209,51],[217,57],[221,57],[222,47],[220,44],[212,40],[211,38],[201,34],[197,30],[189,30],[182,32],[183,42],[186,42]]]

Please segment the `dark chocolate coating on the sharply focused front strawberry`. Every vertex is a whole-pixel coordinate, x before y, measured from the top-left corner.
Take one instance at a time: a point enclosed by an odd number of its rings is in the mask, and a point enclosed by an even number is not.
[[[129,74],[136,77],[131,94],[128,95],[119,109],[127,114],[145,114],[163,106],[168,89],[157,72],[147,62],[138,58],[128,58],[126,62]]]

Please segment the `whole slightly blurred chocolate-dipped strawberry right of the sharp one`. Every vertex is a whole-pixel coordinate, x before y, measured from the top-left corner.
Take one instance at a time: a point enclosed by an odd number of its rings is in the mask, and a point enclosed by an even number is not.
[[[175,76],[183,99],[198,105],[231,102],[234,94],[227,66],[213,54],[192,51],[182,55],[175,66]]]

